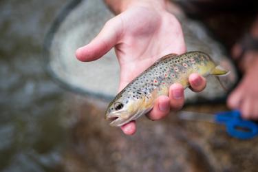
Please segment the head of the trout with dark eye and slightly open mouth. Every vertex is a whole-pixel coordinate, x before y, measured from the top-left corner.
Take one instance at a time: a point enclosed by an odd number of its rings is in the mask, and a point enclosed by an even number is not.
[[[147,109],[144,107],[144,104],[145,100],[143,96],[136,96],[130,92],[118,94],[109,103],[105,113],[105,119],[111,120],[111,126],[120,127],[145,114]]]

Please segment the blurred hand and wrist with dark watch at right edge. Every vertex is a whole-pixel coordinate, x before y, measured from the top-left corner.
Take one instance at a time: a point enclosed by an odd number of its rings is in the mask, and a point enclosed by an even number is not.
[[[239,62],[244,73],[243,78],[228,96],[227,104],[232,109],[239,109],[243,118],[258,120],[258,17],[244,41],[235,44],[232,56]]]

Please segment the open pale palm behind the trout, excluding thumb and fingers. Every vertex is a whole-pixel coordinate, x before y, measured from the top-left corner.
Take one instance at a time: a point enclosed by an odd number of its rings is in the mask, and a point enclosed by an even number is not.
[[[121,26],[115,46],[121,67],[120,89],[158,58],[185,52],[180,23],[168,12],[131,8],[111,22]]]

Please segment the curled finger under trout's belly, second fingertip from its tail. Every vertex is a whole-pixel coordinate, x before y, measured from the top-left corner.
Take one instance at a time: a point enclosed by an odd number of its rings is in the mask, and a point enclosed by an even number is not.
[[[178,111],[184,105],[184,87],[175,83],[169,88],[169,99],[171,110]]]

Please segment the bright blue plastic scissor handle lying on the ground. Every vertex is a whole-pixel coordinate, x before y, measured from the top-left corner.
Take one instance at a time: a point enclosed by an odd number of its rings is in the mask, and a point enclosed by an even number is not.
[[[240,111],[225,111],[216,114],[216,122],[226,125],[230,136],[239,139],[250,139],[258,136],[258,125],[250,120],[243,120]]]

